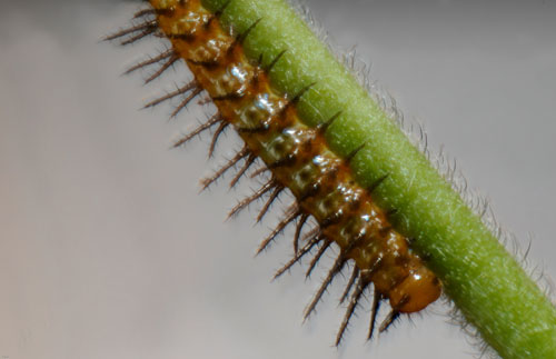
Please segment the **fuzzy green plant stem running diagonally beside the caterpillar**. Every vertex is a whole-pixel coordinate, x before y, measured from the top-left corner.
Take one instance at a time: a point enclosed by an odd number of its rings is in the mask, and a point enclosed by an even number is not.
[[[227,0],[205,0],[212,11]],[[556,310],[518,262],[449,183],[329,53],[284,0],[235,0],[222,21],[244,31],[261,21],[245,42],[247,54],[270,62],[272,86],[304,94],[299,113],[315,126],[342,111],[327,132],[334,151],[348,154],[357,180],[368,186],[384,174],[377,201],[397,209],[396,228],[415,238],[415,249],[444,283],[467,321],[503,358],[556,358]],[[377,34],[379,36],[379,34]]]

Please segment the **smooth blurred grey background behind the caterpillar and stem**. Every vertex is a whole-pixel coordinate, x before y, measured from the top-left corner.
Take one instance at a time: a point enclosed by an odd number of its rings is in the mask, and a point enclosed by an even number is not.
[[[522,246],[533,238],[530,261],[556,276],[554,1],[307,4],[334,42],[358,46],[430,148],[445,144]],[[296,267],[270,283],[290,240],[254,250],[276,217],[254,227],[254,208],[225,221],[256,183],[198,195],[237,139],[214,161],[207,136],[168,150],[207,110],[173,121],[170,107],[137,110],[188,74],[177,67],[147,88],[120,76],[161,48],[99,43],[136,9],[2,0],[0,358],[469,358],[476,348],[441,303],[369,343],[365,303],[336,349],[335,286],[301,326],[326,261],[312,280]]]

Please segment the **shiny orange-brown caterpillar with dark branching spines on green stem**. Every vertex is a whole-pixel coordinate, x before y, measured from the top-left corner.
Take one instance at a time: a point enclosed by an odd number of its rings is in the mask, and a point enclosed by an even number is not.
[[[381,300],[389,300],[391,311],[379,331],[386,330],[400,313],[419,311],[437,300],[441,293],[440,281],[425,267],[424,260],[411,251],[408,238],[390,226],[388,213],[374,202],[373,190],[387,177],[371,188],[363,188],[354,180],[349,167],[350,159],[360,148],[347,158],[341,158],[327,147],[325,133],[332,121],[339,120],[341,109],[316,128],[304,124],[296,107],[315,83],[308,83],[295,94],[275,91],[268,74],[285,52],[267,66],[261,64],[262,59],[249,60],[242,42],[264,19],[252,23],[242,33],[225,29],[219,17],[230,1],[218,11],[210,12],[200,0],[150,0],[148,9],[136,13],[133,26],[107,39],[119,39],[122,44],[128,44],[158,34],[170,41],[171,47],[167,51],[133,66],[128,72],[159,64],[159,69],[147,79],[149,82],[178,60],[183,60],[195,80],[146,107],[182,97],[172,113],[176,116],[202,91],[208,92],[218,112],[179,140],[176,147],[216,127],[209,150],[212,153],[219,136],[231,124],[245,146],[212,177],[205,179],[203,186],[210,186],[241,163],[231,181],[231,186],[235,186],[260,159],[264,164],[251,177],[268,173],[270,179],[252,196],[240,201],[230,215],[267,196],[268,200],[257,217],[257,221],[260,221],[278,196],[289,189],[296,201],[287,208],[284,218],[258,251],[267,248],[288,225],[296,223],[295,256],[276,277],[318,248],[309,263],[309,275],[321,256],[332,243],[336,245],[339,255],[307,306],[305,317],[311,315],[332,279],[353,260],[353,272],[340,299],[340,302],[347,301],[348,305],[336,345],[341,341],[359,299],[373,283],[370,339]],[[318,225],[304,232],[304,225],[309,217],[315,218]],[[300,242],[302,247],[299,248]]]

